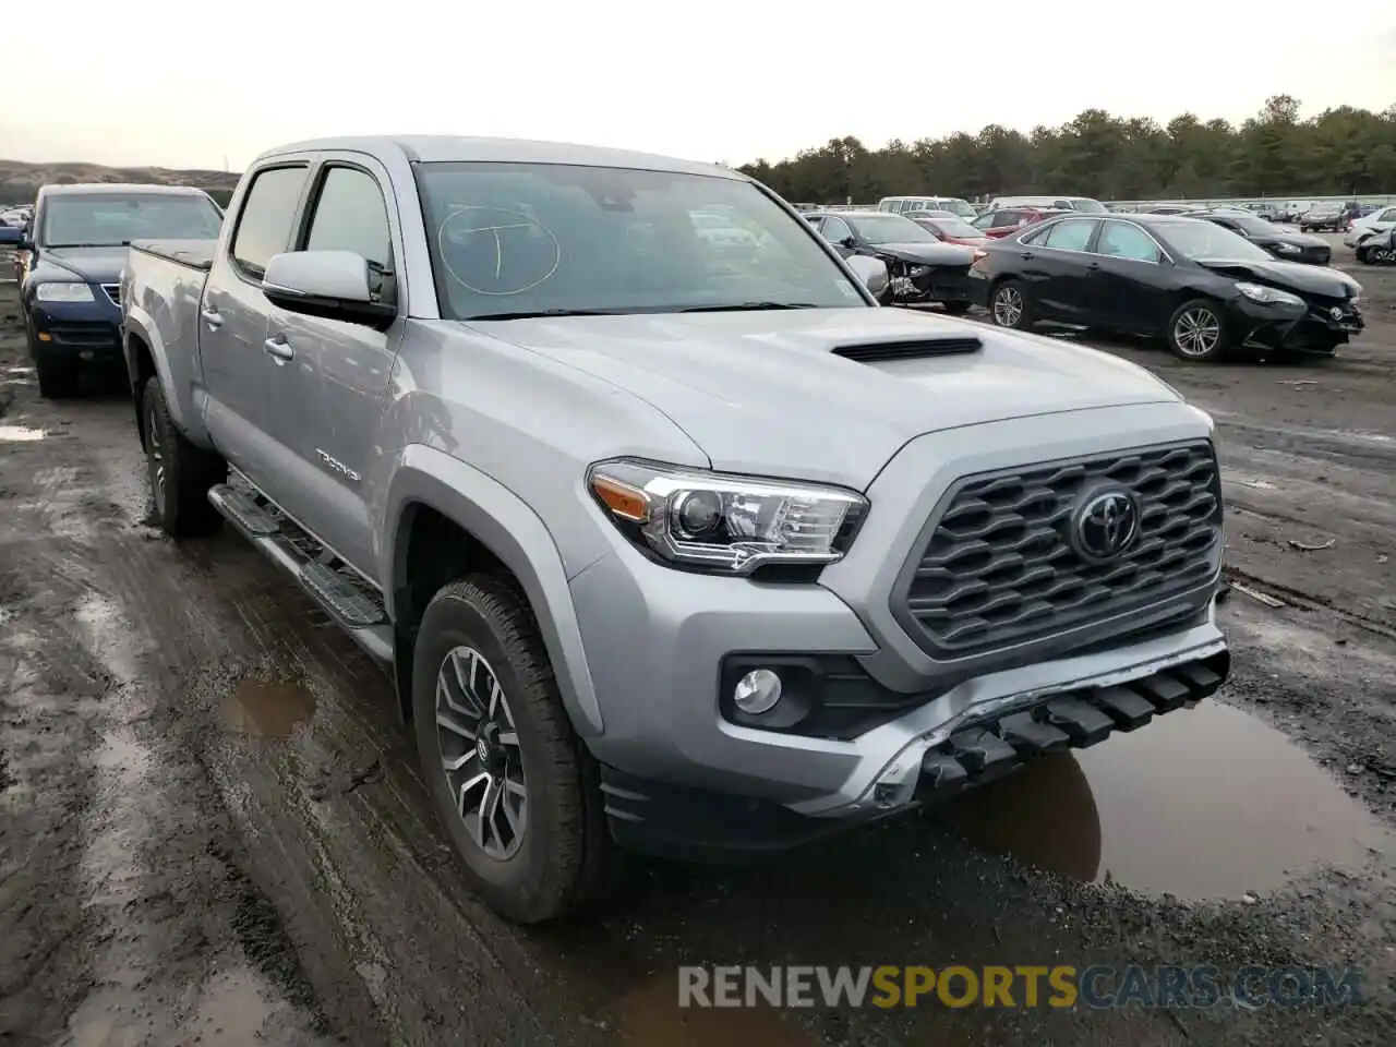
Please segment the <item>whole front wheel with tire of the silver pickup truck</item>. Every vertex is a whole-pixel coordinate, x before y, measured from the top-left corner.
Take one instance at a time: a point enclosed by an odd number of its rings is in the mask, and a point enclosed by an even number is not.
[[[596,766],[524,597],[494,575],[443,588],[413,649],[417,751],[476,892],[517,923],[597,900],[614,868]]]

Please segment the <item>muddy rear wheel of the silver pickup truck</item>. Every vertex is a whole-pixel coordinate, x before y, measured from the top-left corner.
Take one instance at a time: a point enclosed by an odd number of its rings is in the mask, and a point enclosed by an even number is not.
[[[151,522],[170,537],[216,530],[222,517],[208,503],[208,489],[228,480],[228,463],[179,431],[158,378],[149,378],[141,391],[141,430],[154,504]]]

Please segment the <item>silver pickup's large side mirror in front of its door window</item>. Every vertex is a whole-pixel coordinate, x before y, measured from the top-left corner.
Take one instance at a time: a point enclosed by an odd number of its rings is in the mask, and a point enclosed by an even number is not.
[[[374,295],[369,262],[353,251],[289,251],[275,254],[262,274],[262,293],[290,313],[302,313],[385,331],[398,315],[392,303]]]

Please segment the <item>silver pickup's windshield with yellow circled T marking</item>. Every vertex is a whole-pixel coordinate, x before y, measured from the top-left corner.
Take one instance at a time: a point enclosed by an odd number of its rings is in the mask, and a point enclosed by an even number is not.
[[[867,306],[808,223],[750,181],[564,163],[416,170],[452,320]]]

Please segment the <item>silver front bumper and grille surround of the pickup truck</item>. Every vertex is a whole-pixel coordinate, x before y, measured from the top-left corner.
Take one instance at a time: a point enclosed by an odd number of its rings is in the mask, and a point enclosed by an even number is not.
[[[1199,431],[1195,412],[1157,403],[1078,412],[1071,426],[1044,416],[919,437],[871,484],[859,539],[818,584],[673,571],[616,532],[611,551],[571,579],[571,593],[606,725],[586,744],[604,768],[617,836],[644,836],[642,808],[659,810],[660,796],[680,808],[764,811],[762,846],[884,817],[916,803],[926,755],[960,729],[1224,655],[1216,577],[1139,611],[953,660],[917,646],[889,603],[958,477],[1099,454],[1121,434],[1143,447]],[[868,713],[860,729],[764,729],[725,713],[725,666],[769,655],[853,666],[840,701]],[[902,789],[892,804],[888,785]]]

